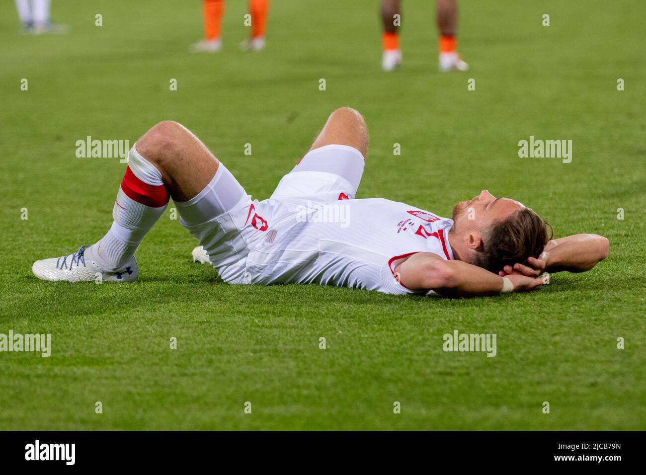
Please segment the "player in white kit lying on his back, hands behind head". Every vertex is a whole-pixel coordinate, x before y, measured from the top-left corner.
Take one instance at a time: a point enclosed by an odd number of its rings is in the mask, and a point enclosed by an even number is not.
[[[536,289],[544,271],[592,269],[608,253],[598,235],[551,240],[532,209],[486,190],[457,203],[453,219],[384,198],[355,200],[367,150],[359,112],[337,109],[273,195],[252,201],[196,136],[158,123],[130,150],[107,234],[32,270],[45,280],[136,280],[134,253],[169,196],[201,244],[193,259],[234,284],[494,295]]]

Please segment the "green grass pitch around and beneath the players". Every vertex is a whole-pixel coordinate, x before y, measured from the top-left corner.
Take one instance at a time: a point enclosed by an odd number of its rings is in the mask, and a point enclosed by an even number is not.
[[[21,36],[13,3],[0,4],[0,333],[52,334],[51,357],[0,353],[0,427],[646,428],[646,5],[461,1],[471,70],[457,74],[437,72],[427,1],[404,1],[404,64],[390,74],[376,0],[273,1],[259,54],[238,51],[245,5],[228,2],[222,52],[191,55],[198,1],[55,1],[71,28],[59,37]],[[487,188],[557,235],[607,236],[609,258],[493,298],[231,286],[193,264],[196,241],[167,211],[138,251],[135,284],[33,277],[34,260],[92,243],[112,222],[125,165],[76,158],[77,140],[134,143],[177,120],[264,199],[346,105],[371,133],[359,198],[447,216]],[[519,158],[529,136],[572,140],[572,162]],[[496,333],[497,355],[443,352],[456,329]]]

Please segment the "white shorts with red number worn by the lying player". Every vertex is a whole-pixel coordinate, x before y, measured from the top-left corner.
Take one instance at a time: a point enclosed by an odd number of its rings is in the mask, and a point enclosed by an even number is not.
[[[326,145],[308,152],[282,177],[270,198],[258,201],[220,163],[203,191],[176,205],[180,222],[204,246],[220,277],[249,283],[247,256],[260,242],[285,235],[304,207],[355,198],[363,170],[364,157],[357,149]]]

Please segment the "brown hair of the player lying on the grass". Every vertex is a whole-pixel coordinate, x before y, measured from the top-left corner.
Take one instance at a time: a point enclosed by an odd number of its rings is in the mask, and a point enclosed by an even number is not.
[[[539,257],[553,236],[551,224],[532,209],[520,209],[483,229],[483,249],[475,254],[475,265],[498,273],[506,265],[526,264],[528,257]]]

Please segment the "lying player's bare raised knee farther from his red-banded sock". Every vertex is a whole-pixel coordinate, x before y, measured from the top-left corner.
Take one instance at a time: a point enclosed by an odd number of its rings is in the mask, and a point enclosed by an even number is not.
[[[366,158],[369,142],[368,127],[361,114],[351,107],[341,107],[330,114],[310,150],[325,145],[349,145]]]

